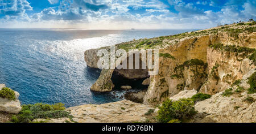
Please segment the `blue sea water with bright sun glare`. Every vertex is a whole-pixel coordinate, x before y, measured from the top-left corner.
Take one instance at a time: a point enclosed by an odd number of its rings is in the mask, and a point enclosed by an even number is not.
[[[0,29],[0,83],[19,92],[22,104],[118,101],[112,93],[90,92],[100,70],[86,66],[85,50],[193,30]]]

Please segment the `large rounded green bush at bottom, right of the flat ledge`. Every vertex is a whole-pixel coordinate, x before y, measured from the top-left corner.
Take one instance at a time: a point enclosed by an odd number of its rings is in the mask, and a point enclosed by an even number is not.
[[[183,120],[191,118],[196,114],[195,103],[191,98],[179,101],[167,100],[159,107],[157,119],[159,122],[167,123],[173,119]]]

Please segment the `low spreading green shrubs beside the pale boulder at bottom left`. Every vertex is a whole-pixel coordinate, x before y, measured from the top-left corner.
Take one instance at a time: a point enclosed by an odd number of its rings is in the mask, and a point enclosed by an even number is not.
[[[55,105],[48,105],[44,103],[36,103],[34,105],[23,105],[18,115],[11,118],[14,123],[30,123],[34,119],[47,118],[72,118],[68,111],[63,110],[64,104],[57,103]]]

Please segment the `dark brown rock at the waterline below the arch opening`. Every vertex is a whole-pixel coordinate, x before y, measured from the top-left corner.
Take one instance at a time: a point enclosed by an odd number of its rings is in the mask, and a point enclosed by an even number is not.
[[[127,92],[125,94],[125,99],[136,103],[142,103],[146,92],[147,90],[142,90],[139,92]]]

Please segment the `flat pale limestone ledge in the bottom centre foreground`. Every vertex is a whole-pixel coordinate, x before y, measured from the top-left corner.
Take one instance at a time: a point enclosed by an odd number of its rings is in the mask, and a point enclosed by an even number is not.
[[[67,111],[73,115],[73,121],[78,123],[133,123],[145,122],[145,113],[154,107],[123,100],[101,105],[82,105],[69,107]],[[49,123],[71,122],[68,118],[36,119]]]

